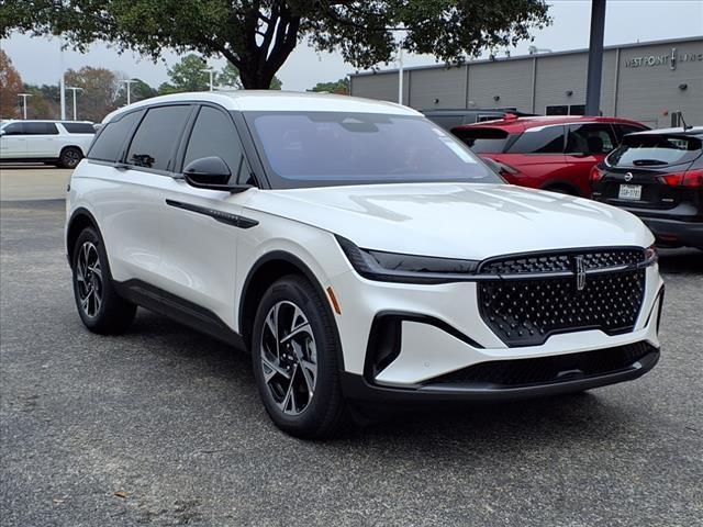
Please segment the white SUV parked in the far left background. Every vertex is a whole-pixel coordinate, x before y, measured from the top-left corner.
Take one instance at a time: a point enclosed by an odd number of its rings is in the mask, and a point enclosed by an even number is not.
[[[75,168],[96,134],[87,121],[3,121],[0,161],[47,162]]]

